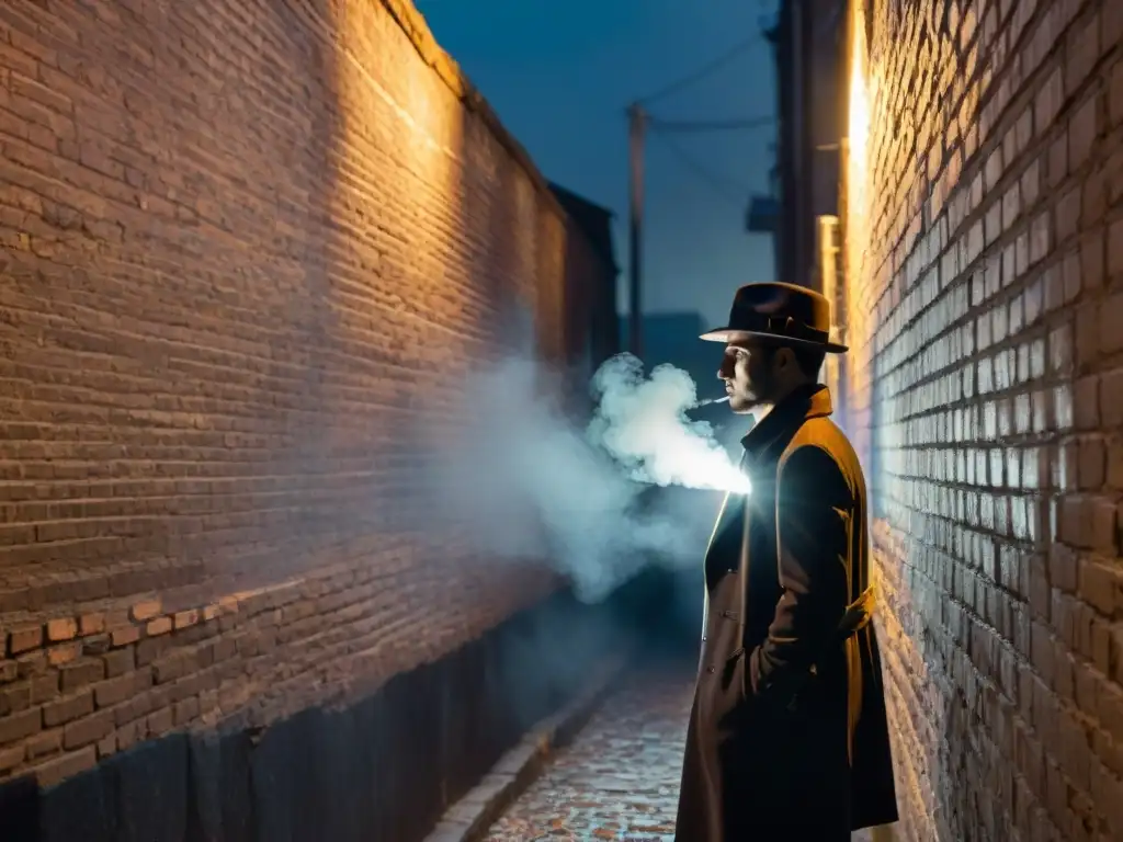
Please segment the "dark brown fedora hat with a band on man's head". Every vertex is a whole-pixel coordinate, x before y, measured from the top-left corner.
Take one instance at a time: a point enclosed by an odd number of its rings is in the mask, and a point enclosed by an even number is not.
[[[746,284],[737,291],[729,323],[702,335],[709,342],[736,342],[759,338],[846,354],[844,345],[831,341],[831,305],[814,290],[768,281]]]

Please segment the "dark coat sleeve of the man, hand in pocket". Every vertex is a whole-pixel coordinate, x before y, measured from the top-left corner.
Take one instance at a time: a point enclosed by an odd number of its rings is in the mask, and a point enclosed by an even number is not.
[[[765,642],[749,655],[747,692],[760,696],[805,675],[846,613],[853,494],[838,463],[805,445],[777,477],[777,562],[783,588]]]

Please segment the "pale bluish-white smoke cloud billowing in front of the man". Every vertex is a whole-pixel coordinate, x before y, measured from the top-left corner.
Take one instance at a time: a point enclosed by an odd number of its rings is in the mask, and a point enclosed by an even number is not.
[[[562,378],[531,359],[502,360],[464,385],[455,425],[432,440],[433,525],[481,555],[546,560],[585,601],[652,561],[699,562],[713,492],[745,491],[710,424],[688,420],[695,386],[674,367],[646,378],[633,357],[609,360],[587,428],[563,410]],[[673,485],[696,491],[652,487]]]

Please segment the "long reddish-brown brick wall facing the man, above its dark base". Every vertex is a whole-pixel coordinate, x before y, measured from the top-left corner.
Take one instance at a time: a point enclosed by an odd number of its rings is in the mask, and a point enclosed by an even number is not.
[[[560,353],[565,227],[401,0],[0,3],[0,779],[554,587],[409,516],[509,303]]]

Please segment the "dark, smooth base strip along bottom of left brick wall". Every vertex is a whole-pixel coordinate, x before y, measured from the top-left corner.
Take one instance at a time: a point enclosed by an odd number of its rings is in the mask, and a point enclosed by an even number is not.
[[[259,732],[171,734],[48,789],[10,781],[4,842],[423,839],[533,723],[575,698],[591,710],[591,667],[610,675],[605,653],[631,639],[620,604],[563,594],[349,706]],[[578,724],[568,710],[555,740]]]

